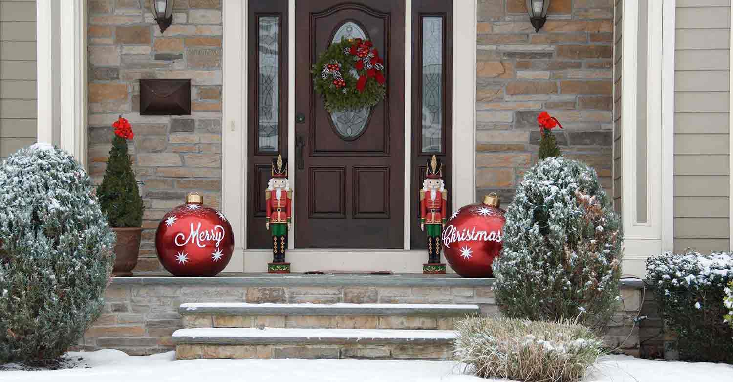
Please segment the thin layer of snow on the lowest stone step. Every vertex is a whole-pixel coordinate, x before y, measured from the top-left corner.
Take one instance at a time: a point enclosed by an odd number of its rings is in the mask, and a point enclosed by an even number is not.
[[[294,339],[454,339],[452,330],[321,329],[321,328],[185,328],[173,337],[189,338],[294,338]]]

